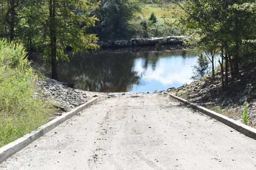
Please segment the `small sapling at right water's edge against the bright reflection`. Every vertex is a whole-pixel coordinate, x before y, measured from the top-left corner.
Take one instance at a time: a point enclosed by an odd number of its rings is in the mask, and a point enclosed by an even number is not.
[[[194,65],[193,76],[191,79],[198,80],[201,79],[207,74],[209,71],[209,62],[207,61],[207,57],[201,54],[198,57],[197,65]]]

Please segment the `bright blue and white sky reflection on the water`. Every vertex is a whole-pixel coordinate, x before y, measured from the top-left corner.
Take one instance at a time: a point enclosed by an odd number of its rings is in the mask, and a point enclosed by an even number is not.
[[[171,54],[170,54],[171,55]],[[195,65],[197,57],[192,55],[188,57],[166,56],[157,61],[156,67],[153,69],[152,65],[144,68],[143,62],[145,59],[135,59],[134,71],[140,77],[140,84],[134,85],[129,91],[155,91],[166,90],[170,87],[179,87],[185,83],[192,82],[192,66]]]

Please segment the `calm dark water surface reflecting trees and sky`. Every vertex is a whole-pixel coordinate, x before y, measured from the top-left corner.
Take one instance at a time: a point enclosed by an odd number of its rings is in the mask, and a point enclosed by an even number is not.
[[[97,92],[153,92],[192,82],[192,51],[154,48],[101,50],[58,63],[59,79]]]

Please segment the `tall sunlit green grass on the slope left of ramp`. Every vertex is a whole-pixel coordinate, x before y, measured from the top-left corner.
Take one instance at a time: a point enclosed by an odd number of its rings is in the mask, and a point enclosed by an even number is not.
[[[25,56],[22,45],[0,41],[0,147],[44,125],[56,112],[41,99]]]

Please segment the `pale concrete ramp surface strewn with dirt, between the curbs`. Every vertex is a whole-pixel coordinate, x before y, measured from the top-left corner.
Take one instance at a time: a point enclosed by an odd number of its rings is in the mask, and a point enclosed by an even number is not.
[[[164,94],[111,96],[1,170],[255,170],[256,140]]]

